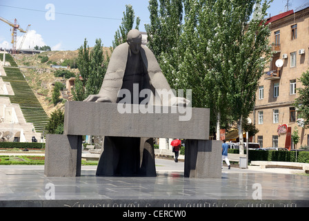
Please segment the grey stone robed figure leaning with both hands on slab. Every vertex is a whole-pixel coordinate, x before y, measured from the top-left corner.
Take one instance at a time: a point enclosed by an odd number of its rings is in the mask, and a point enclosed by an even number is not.
[[[155,55],[141,45],[141,32],[136,29],[130,30],[127,42],[112,52],[99,94],[90,95],[84,102],[119,103],[123,98],[119,97],[122,89],[130,92],[131,104],[141,104],[140,98],[134,99],[134,93],[140,93],[143,89],[151,90],[154,98],[148,99],[150,105],[162,104],[155,90],[170,90]],[[186,106],[188,102],[183,97],[172,95],[168,104]],[[153,138],[104,137],[97,175],[155,176]]]

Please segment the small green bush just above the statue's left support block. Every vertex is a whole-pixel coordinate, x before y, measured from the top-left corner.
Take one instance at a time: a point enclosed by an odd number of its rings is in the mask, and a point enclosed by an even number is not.
[[[46,131],[52,134],[62,134],[64,124],[64,113],[61,110],[56,110],[51,113]]]

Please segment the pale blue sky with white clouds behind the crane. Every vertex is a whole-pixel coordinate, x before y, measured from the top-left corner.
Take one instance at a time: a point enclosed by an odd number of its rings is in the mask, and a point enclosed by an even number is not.
[[[309,0],[274,0],[268,12],[271,16],[289,9],[295,10]],[[87,39],[90,47],[96,39],[103,46],[112,46],[114,34],[121,25],[126,5],[131,5],[135,17],[141,19],[139,30],[150,23],[148,0],[0,0],[0,17],[14,23],[28,33],[22,48],[50,46],[52,50],[77,50]],[[10,26],[0,21],[0,48],[12,48]],[[17,48],[24,33],[17,31]]]

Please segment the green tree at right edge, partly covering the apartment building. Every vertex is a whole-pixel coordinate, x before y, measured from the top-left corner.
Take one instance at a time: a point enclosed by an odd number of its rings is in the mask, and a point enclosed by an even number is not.
[[[309,70],[303,73],[299,79],[303,88],[297,88],[299,97],[295,99],[294,106],[297,108],[297,116],[303,119],[303,124],[309,128]]]

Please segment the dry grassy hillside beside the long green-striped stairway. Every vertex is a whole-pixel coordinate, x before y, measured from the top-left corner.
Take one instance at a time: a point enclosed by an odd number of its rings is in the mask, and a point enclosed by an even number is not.
[[[110,48],[103,48],[103,51],[104,53],[108,52],[110,55]],[[42,63],[42,58],[46,56],[48,57],[48,61]],[[52,68],[51,65],[61,65],[66,59],[74,61],[77,57],[78,50],[48,51],[37,55],[20,54],[14,56],[14,60],[21,68],[21,73],[25,75],[26,81],[28,81],[34,95],[37,97],[48,116],[50,116],[50,113],[53,111],[64,108],[64,101],[57,104],[57,106],[52,104],[52,91],[56,81],[61,81],[63,84],[66,82],[66,79],[63,79],[63,77],[54,77],[54,73],[58,69]],[[74,74],[79,73],[77,68],[68,68],[68,70]]]

